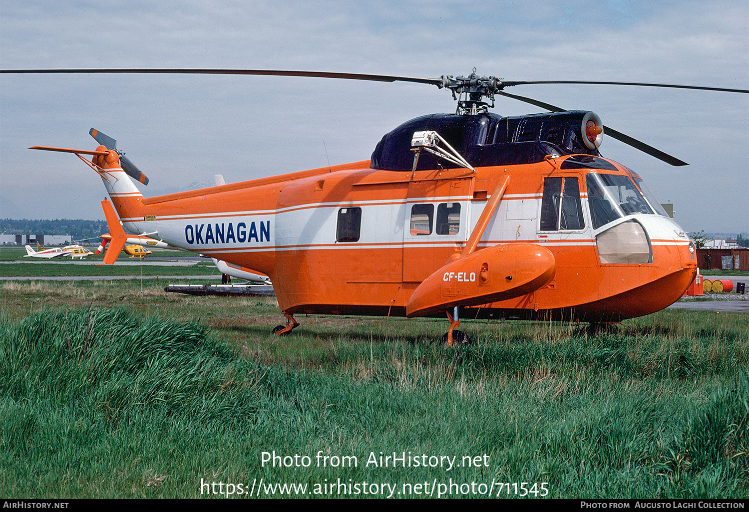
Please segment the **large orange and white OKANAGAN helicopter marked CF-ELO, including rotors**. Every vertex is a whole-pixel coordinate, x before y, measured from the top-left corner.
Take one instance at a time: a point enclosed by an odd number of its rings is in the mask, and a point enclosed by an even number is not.
[[[406,121],[372,156],[145,198],[115,139],[91,129],[74,153],[103,180],[110,227],[268,275],[287,335],[295,314],[446,317],[443,342],[469,342],[461,319],[568,320],[593,326],[660,311],[697,275],[694,242],[643,178],[601,156],[604,134],[670,165],[686,162],[605,126],[594,112],[509,94],[533,84],[639,82],[439,79],[285,70],[67,69],[3,73],[183,73],[416,82],[452,92],[454,114]],[[549,112],[502,117],[497,96]],[[87,157],[90,157],[88,159]],[[124,237],[123,237],[124,238]],[[112,243],[108,249],[119,244]],[[113,257],[105,257],[113,260]]]

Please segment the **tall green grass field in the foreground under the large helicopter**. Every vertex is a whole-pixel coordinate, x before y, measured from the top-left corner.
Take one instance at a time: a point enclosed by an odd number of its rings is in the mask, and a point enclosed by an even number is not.
[[[745,314],[462,323],[474,344],[449,348],[436,320],[299,317],[275,338],[274,299],[167,282],[0,284],[0,495],[749,496]],[[455,466],[367,465],[380,452]]]

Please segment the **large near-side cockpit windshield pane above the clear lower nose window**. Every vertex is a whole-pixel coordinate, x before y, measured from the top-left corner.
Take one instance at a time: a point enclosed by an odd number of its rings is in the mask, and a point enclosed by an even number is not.
[[[593,228],[600,228],[633,213],[653,213],[640,191],[627,176],[586,174],[585,183]]]

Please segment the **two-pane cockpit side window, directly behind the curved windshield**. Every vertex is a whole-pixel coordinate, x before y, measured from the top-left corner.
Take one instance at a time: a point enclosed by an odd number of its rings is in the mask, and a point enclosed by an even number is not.
[[[577,177],[544,180],[540,231],[572,231],[585,228]]]

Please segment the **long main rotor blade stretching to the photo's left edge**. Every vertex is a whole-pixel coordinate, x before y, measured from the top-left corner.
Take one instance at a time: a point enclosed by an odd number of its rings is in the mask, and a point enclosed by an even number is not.
[[[207,68],[108,68],[108,69],[47,69],[47,70],[0,70],[0,73],[149,73],[175,75],[261,75],[261,76],[312,76],[317,78],[336,78],[347,80],[371,80],[374,82],[416,82],[442,86],[442,79],[416,78],[411,76],[371,75],[366,73],[330,73],[327,71],[292,71],[292,70],[230,70]]]

